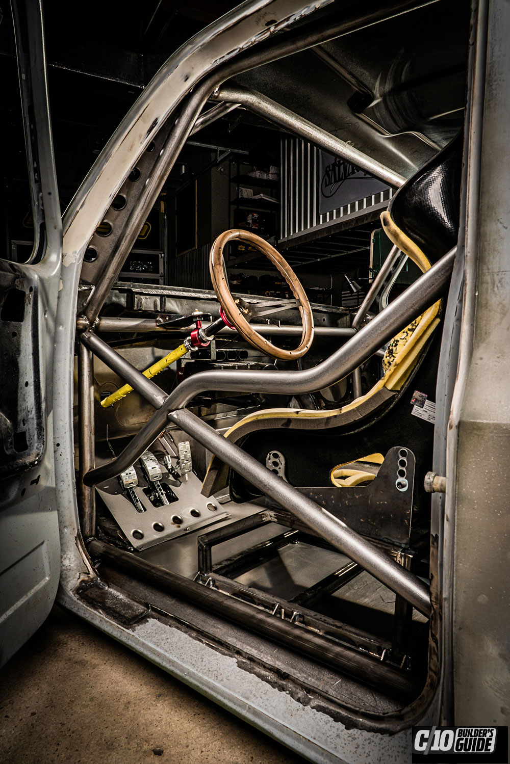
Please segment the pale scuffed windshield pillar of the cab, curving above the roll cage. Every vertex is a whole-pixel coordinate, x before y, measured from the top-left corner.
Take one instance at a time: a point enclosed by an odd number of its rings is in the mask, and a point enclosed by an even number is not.
[[[201,79],[232,57],[238,57],[240,50],[260,43],[329,2],[319,0],[313,5],[302,0],[244,2],[191,37],[174,53],[125,115],[70,203],[63,219],[67,256],[80,257],[141,153]],[[211,90],[218,84],[212,83]],[[203,102],[207,95],[209,92],[205,93]],[[199,112],[200,108],[201,105]],[[192,127],[193,123],[190,129]]]

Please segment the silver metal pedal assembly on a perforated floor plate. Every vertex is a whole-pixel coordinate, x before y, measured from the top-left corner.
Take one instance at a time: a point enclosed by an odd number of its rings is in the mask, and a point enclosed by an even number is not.
[[[193,472],[188,441],[176,447],[163,434],[151,448],[119,478],[96,487],[135,549],[148,549],[229,518],[216,500],[200,493],[202,483]]]

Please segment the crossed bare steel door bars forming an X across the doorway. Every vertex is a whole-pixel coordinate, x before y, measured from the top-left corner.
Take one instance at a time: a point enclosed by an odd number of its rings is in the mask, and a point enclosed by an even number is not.
[[[236,391],[245,391],[248,388],[258,392],[305,393],[333,384],[369,358],[384,342],[404,329],[430,303],[440,297],[450,279],[455,253],[456,248],[450,250],[388,308],[362,327],[342,348],[326,361],[305,371],[205,371],[185,380],[177,390],[165,397],[158,385],[144,377],[106,342],[92,332],[83,332],[83,345],[158,408],[118,458],[112,460],[109,465],[89,471],[83,482],[93,486],[119,474],[139,458],[169,421],[173,422],[265,494],[307,523],[315,533],[333,544],[336,549],[362,565],[362,568],[378,578],[378,581],[382,581],[391,591],[400,594],[417,610],[429,616],[430,594],[423,581],[401,568],[384,552],[326,512],[323,507],[278,478],[255,458],[242,451],[242,448],[226,440],[197,416],[182,409],[197,393],[204,390],[225,390],[228,387],[229,390]]]

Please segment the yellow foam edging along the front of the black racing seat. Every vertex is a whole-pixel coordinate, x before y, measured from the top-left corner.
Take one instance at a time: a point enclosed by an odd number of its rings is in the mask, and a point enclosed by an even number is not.
[[[391,219],[389,212],[385,211],[381,213],[381,222],[386,235],[388,235],[388,238],[393,244],[396,244],[404,254],[407,254],[408,257],[417,264],[422,273],[429,270],[431,266],[427,257],[417,244],[414,244],[414,241],[411,241],[408,235],[404,234],[404,231],[401,231],[400,228],[398,228],[398,225]],[[224,433],[225,437],[229,438],[239,427],[244,426],[248,422],[257,422],[258,419],[328,419],[330,416],[339,416],[347,411],[356,409],[361,403],[365,403],[366,400],[369,400],[375,395],[378,390],[382,390],[383,387],[393,391],[400,390],[410,376],[414,365],[417,363],[424,345],[426,345],[427,340],[440,322],[440,319],[437,317],[440,305],[441,301],[439,299],[437,300],[437,303],[434,303],[433,306],[427,308],[421,316],[414,319],[414,321],[411,322],[411,324],[409,324],[399,335],[391,340],[388,345],[388,350],[385,353],[385,358],[382,359],[383,371],[385,371],[385,373],[381,379],[375,383],[372,389],[369,390],[368,393],[365,393],[365,395],[356,398],[356,400],[352,400],[351,403],[347,403],[346,406],[342,406],[339,409],[329,409],[325,411],[265,409],[263,411],[258,411],[249,414],[249,416],[245,416],[244,419],[236,422],[235,425]],[[405,338],[406,341],[403,343],[399,342],[401,338]],[[390,348],[391,352],[388,353]],[[215,458],[216,457],[213,457],[210,461],[206,477]],[[204,483],[205,481],[206,478],[204,478]]]

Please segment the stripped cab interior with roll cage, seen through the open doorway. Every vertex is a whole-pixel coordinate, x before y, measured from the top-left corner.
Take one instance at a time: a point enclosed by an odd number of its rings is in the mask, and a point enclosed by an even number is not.
[[[150,611],[304,703],[390,729],[437,681],[434,597],[423,604],[447,300],[434,268],[459,235],[469,4],[388,8],[306,47],[355,11],[333,6],[293,31],[301,50],[209,99],[143,211],[165,123],[89,241],[73,419],[98,578],[77,594],[123,624]],[[349,163],[352,146],[382,171]],[[324,514],[355,534],[356,558]],[[404,594],[374,575],[381,555],[407,571]]]

